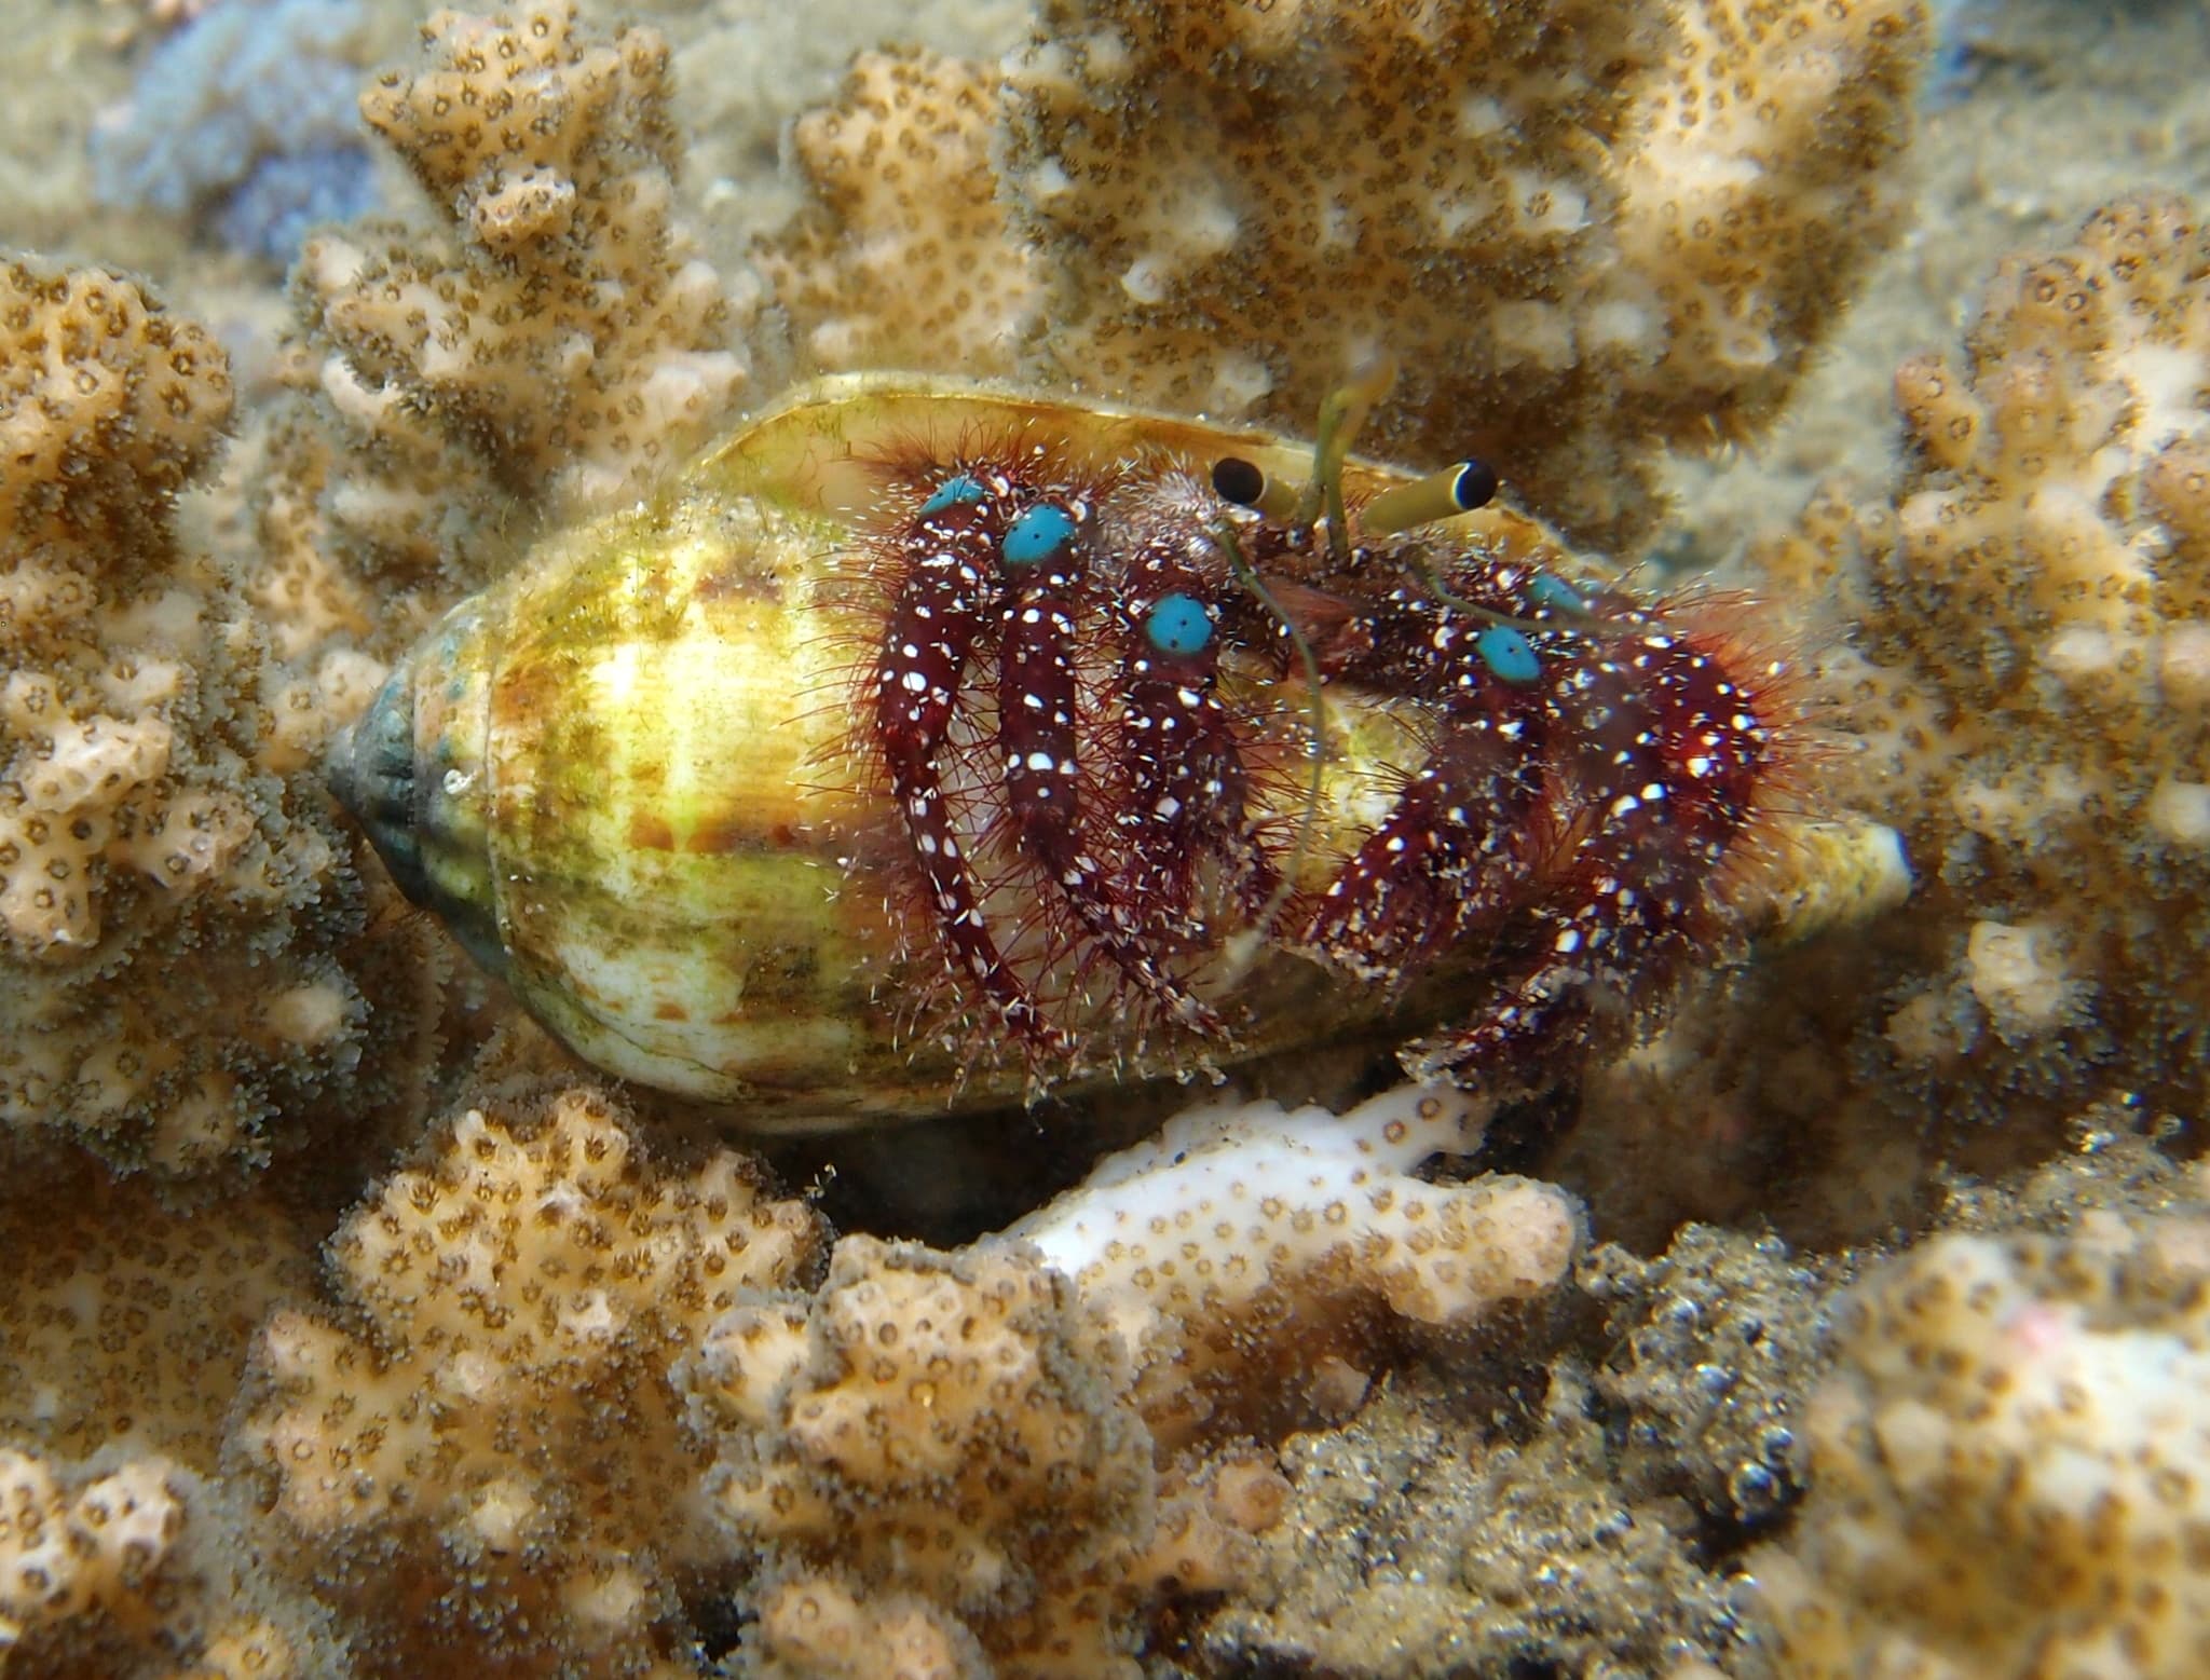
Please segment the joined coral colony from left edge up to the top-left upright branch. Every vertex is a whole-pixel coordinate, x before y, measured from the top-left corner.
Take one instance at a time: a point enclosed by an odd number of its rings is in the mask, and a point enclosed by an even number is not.
[[[632,484],[743,374],[667,212],[665,49],[570,22],[446,15],[369,97],[462,230],[314,248],[320,409],[254,435],[236,568],[175,535],[230,413],[212,340],[113,276],[0,276],[0,1114],[188,1167],[318,1099],[420,1103],[438,935],[382,917],[298,774],[440,603],[424,561]]]

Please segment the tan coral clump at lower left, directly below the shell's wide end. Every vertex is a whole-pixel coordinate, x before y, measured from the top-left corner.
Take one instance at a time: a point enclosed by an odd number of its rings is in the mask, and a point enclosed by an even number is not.
[[[338,1229],[343,1317],[270,1320],[272,1395],[239,1450],[371,1618],[411,1596],[391,1594],[402,1567],[429,1596],[471,1583],[480,1609],[455,1614],[517,1647],[632,1669],[667,1572],[712,1552],[670,1364],[747,1291],[802,1282],[818,1240],[738,1156],[648,1163],[590,1092],[471,1110]]]

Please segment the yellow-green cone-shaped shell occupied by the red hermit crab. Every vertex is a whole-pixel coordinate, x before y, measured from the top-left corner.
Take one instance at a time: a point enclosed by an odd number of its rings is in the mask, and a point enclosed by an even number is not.
[[[332,783],[398,880],[597,1068],[736,1103],[760,1127],[869,1123],[1023,1096],[1021,1057],[917,1019],[941,975],[855,849],[884,827],[853,760],[853,531],[886,449],[1034,429],[1063,460],[1204,471],[1224,453],[1302,475],[1269,435],[911,378],[838,378],[743,424],[652,502],[544,542],[464,601],[340,741]],[[1353,464],[1353,493],[1397,482]],[[1556,564],[1540,528],[1467,515],[1498,553]],[[842,615],[842,617],[840,617]],[[1240,705],[1275,679],[1233,672]],[[1277,707],[1302,718],[1299,681]],[[1324,880],[1417,765],[1417,718],[1330,694],[1333,763],[1304,884]],[[1273,794],[1280,798],[1280,794]],[[1383,999],[1271,944],[1193,986],[1233,1043],[1134,1037],[1105,999],[1083,1070],[1145,1074],[1357,1030]]]

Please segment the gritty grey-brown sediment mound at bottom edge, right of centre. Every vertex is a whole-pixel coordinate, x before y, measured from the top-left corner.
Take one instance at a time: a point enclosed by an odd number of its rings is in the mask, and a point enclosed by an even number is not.
[[[1516,1377],[1414,1371],[1284,1441],[1282,1519],[1242,1592],[1198,1618],[1193,1667],[1766,1680],[1693,1512],[1613,1477],[1587,1373]]]

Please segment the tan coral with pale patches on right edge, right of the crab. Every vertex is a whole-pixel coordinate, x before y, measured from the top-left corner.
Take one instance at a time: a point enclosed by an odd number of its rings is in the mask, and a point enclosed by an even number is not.
[[[1890,497],[1828,495],[1770,575],[1861,592],[1821,676],[1843,791],[1925,880],[1883,1052],[1929,1088],[2199,1103],[2210,942],[2210,232],[2108,206],[2007,261],[1962,354],[1896,374]]]

